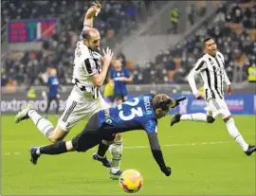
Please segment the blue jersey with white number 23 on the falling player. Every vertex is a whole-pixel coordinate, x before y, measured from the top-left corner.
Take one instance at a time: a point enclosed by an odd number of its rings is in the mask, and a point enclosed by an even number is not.
[[[157,120],[152,106],[153,94],[131,98],[98,113],[99,125],[108,126],[111,130],[126,132],[145,130],[147,134],[157,133]]]

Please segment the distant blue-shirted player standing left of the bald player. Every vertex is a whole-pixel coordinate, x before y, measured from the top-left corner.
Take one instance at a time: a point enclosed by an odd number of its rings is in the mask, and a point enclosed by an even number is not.
[[[50,103],[52,100],[56,101],[57,107],[55,110],[56,117],[58,118],[58,112],[59,112],[59,80],[57,77],[57,71],[55,68],[50,69],[50,75],[47,80],[47,86],[49,88],[48,96],[47,96],[47,107],[46,107],[46,118],[48,116],[48,110],[50,107]]]

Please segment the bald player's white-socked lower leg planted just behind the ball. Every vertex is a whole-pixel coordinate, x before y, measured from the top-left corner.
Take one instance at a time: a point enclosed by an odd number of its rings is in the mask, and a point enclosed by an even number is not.
[[[121,134],[116,134],[114,143],[110,146],[109,151],[112,155],[112,165],[110,169],[110,178],[113,180],[119,180],[119,176],[122,171],[120,170],[120,162],[122,156],[122,138]]]

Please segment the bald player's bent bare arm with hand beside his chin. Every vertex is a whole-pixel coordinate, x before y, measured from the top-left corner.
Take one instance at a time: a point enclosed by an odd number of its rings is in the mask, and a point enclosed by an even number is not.
[[[104,56],[102,57],[101,73],[97,72],[92,76],[92,82],[96,87],[101,87],[107,76],[107,71],[112,60],[114,53],[107,47],[106,51],[103,50]]]

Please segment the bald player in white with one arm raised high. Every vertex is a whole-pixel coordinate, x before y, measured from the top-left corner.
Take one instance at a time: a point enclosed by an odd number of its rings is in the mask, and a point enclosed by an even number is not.
[[[31,118],[38,130],[51,142],[63,140],[64,136],[83,119],[89,119],[93,114],[108,108],[109,105],[101,97],[100,87],[106,78],[109,64],[112,61],[113,52],[107,47],[103,50],[103,57],[100,54],[101,36],[98,29],[92,27],[95,15],[101,11],[101,4],[96,2],[87,10],[81,33],[81,40],[77,43],[75,50],[73,79],[74,87],[66,100],[66,107],[63,116],[58,120],[57,127],[43,116],[39,115],[32,105],[28,104],[20,113],[15,116],[18,123],[24,119]],[[112,163],[105,156],[93,154],[95,160],[101,161],[105,167],[111,167],[111,178],[118,178],[121,174],[119,162],[122,150],[122,141],[115,139],[112,151]],[[112,142],[102,141],[101,146],[108,148]],[[113,167],[112,167],[113,166]]]

